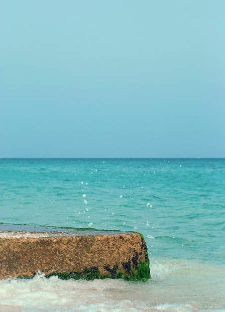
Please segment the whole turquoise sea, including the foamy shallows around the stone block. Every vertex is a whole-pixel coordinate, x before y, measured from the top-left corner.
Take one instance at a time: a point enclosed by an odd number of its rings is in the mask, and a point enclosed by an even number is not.
[[[151,274],[0,280],[1,312],[225,312],[225,158],[1,158],[0,223],[142,233]]]

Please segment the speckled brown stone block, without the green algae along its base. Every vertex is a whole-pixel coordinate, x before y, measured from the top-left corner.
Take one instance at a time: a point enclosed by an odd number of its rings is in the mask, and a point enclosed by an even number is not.
[[[88,268],[97,268],[100,276],[113,268],[116,274],[127,274],[146,259],[147,247],[138,233],[0,231],[0,279]]]

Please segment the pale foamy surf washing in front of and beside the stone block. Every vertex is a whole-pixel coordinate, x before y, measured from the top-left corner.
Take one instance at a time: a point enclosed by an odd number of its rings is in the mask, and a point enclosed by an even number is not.
[[[41,272],[0,281],[1,312],[222,312],[225,269],[181,260],[150,262],[152,279],[62,281]]]

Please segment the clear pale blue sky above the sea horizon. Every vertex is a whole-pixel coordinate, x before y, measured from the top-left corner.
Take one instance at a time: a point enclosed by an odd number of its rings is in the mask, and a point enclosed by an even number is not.
[[[225,157],[225,0],[0,0],[0,157]]]

